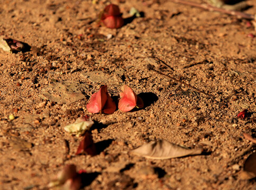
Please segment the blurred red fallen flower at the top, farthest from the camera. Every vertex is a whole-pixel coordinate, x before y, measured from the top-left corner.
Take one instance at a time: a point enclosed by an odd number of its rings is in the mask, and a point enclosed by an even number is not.
[[[124,24],[122,14],[117,5],[110,4],[100,14],[100,22],[110,29],[118,29]]]

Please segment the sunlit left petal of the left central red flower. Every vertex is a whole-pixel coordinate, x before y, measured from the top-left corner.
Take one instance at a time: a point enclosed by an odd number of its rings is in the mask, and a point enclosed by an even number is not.
[[[87,104],[87,110],[91,113],[99,113],[107,101],[107,86],[102,86],[100,90],[94,94]]]

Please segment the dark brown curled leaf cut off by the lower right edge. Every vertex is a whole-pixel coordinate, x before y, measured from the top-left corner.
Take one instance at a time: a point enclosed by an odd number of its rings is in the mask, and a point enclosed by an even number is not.
[[[252,153],[244,163],[244,169],[241,174],[242,179],[252,179],[256,177],[256,153]]]

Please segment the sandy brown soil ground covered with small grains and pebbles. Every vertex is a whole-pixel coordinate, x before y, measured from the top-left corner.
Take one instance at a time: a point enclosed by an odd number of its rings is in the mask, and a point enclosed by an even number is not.
[[[0,50],[0,189],[47,189],[66,164],[86,170],[84,189],[255,189],[255,179],[240,179],[255,151],[244,152],[252,143],[242,136],[255,136],[253,27],[171,1],[124,0],[112,2],[124,18],[131,7],[144,17],[111,30],[92,22],[109,4],[96,2],[0,1],[0,34],[40,48]],[[246,13],[255,14],[256,1],[248,4]],[[149,71],[149,63],[211,97]],[[102,84],[111,96],[128,84],[145,108],[89,113],[86,103]],[[249,117],[237,119],[244,109]],[[82,138],[63,129],[84,115],[98,123],[93,157],[75,156]],[[205,154],[154,160],[129,153],[156,139]]]

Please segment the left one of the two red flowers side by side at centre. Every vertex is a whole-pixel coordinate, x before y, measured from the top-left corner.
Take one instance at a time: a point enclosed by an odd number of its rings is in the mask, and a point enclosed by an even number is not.
[[[107,92],[107,86],[102,86],[98,92],[92,94],[86,107],[91,113],[103,112],[110,114],[117,109],[116,104]]]

